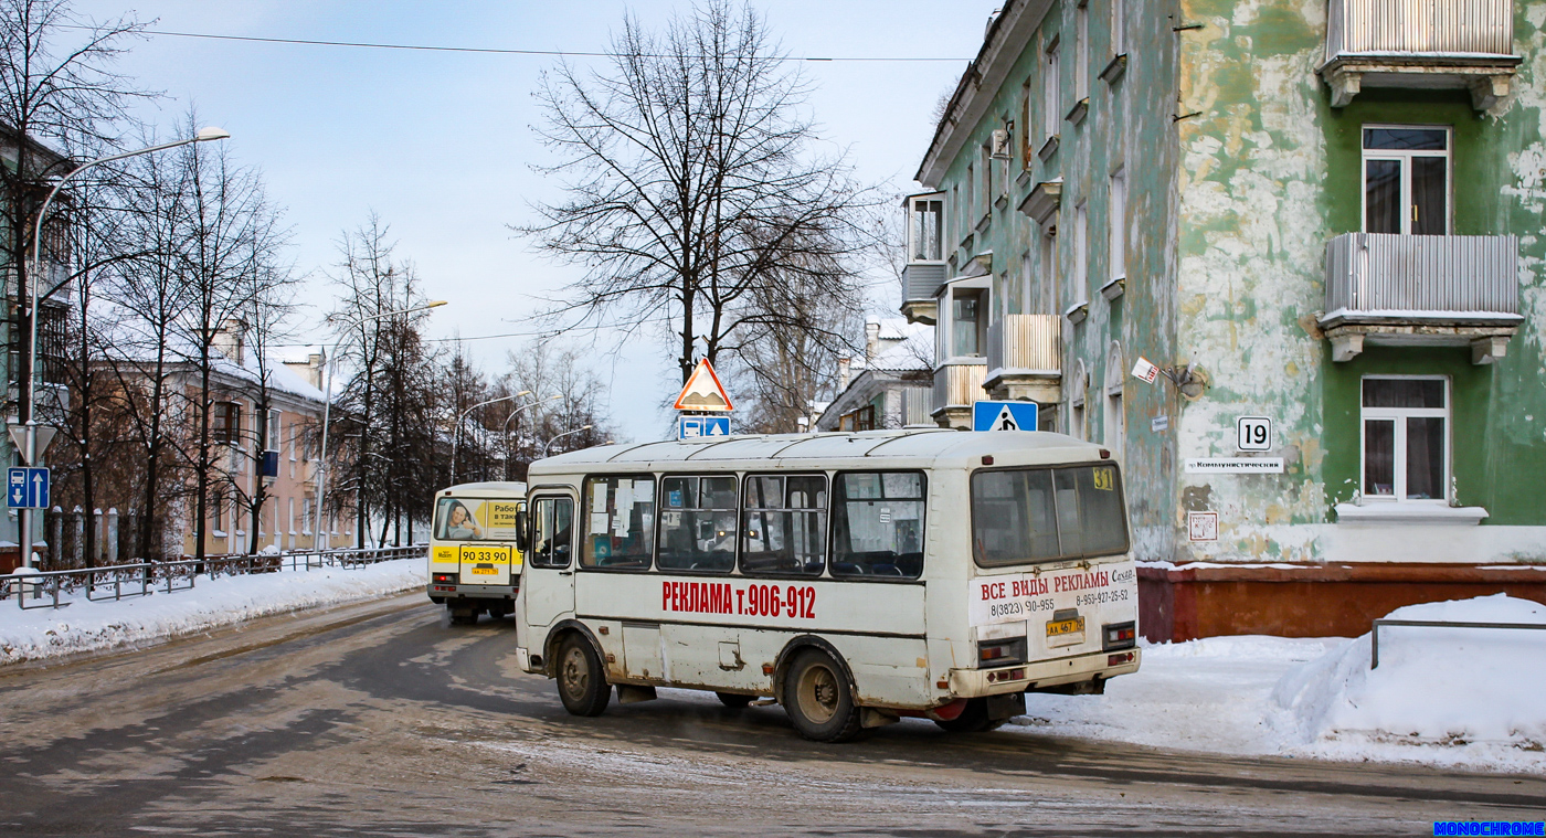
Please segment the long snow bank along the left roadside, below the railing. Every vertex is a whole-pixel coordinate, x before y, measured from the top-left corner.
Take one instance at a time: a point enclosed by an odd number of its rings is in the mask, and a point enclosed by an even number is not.
[[[110,649],[192,634],[255,617],[424,586],[424,560],[400,558],[345,571],[281,571],[244,577],[198,577],[192,591],[28,609],[0,601],[0,665]]]

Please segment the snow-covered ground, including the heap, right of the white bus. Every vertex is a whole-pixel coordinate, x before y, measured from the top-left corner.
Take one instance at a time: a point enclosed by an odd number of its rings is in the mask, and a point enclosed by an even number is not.
[[[1390,617],[1546,623],[1546,606],[1498,594]],[[1546,773],[1546,631],[1384,628],[1379,668],[1368,663],[1367,634],[1149,645],[1104,696],[1028,694],[1016,722],[1164,748]]]

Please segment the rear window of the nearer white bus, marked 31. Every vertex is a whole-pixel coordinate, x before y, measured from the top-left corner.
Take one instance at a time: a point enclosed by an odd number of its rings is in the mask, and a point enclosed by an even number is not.
[[[977,472],[972,557],[1000,567],[1125,554],[1125,510],[1115,465]]]

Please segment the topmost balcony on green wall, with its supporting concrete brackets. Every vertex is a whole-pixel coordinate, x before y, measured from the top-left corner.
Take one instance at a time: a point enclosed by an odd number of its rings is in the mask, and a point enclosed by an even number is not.
[[[1484,111],[1509,96],[1514,0],[1330,0],[1320,77],[1331,107],[1365,87],[1470,90]]]

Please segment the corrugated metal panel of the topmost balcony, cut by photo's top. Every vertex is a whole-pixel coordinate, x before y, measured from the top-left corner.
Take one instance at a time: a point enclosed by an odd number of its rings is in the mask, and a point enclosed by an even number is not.
[[[1514,53],[1514,0],[1330,0],[1326,60],[1345,54]]]

